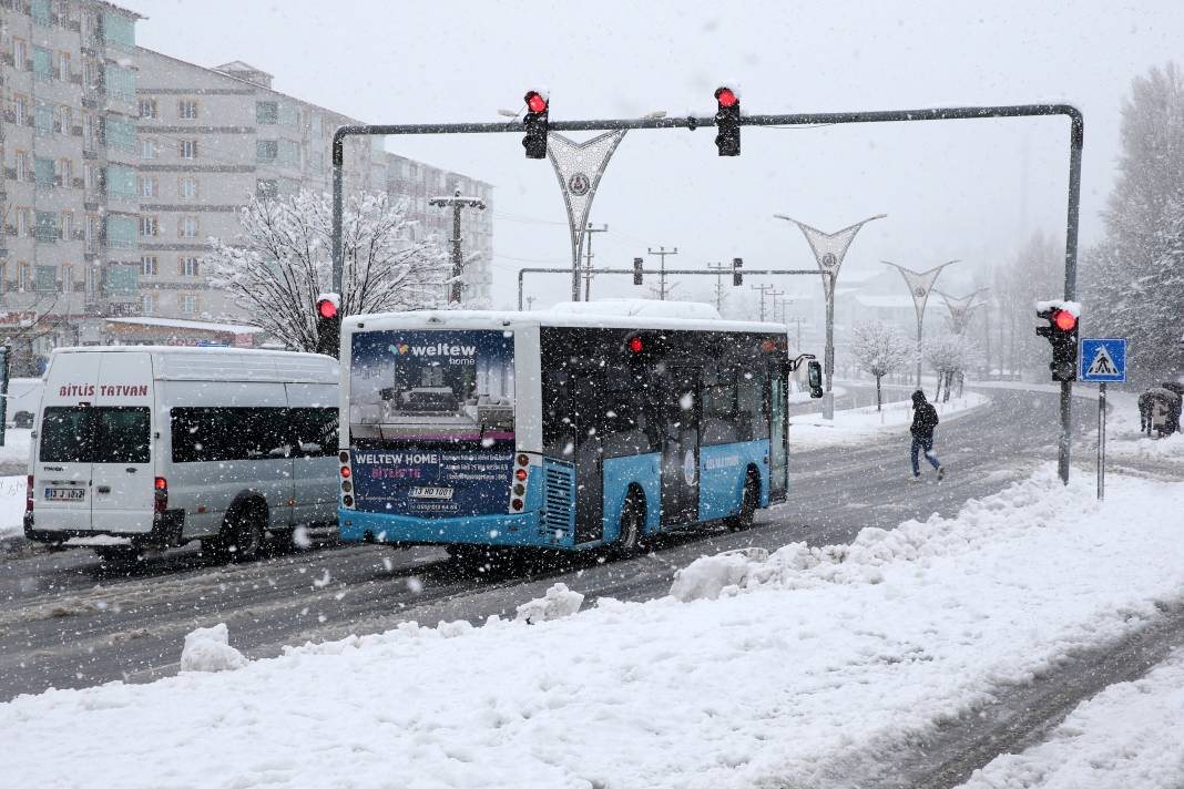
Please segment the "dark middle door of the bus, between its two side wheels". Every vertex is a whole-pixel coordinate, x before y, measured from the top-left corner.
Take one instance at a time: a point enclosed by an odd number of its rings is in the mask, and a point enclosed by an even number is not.
[[[662,406],[662,525],[699,519],[700,377],[697,367],[671,367],[658,381]]]

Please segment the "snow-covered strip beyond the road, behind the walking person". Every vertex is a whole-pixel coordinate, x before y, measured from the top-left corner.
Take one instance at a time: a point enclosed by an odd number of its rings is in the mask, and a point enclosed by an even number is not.
[[[951,397],[948,402],[938,402],[938,416],[942,422],[965,414],[972,408],[984,406],[990,400],[976,392],[965,392],[961,397]],[[825,446],[843,446],[864,444],[869,440],[888,435],[908,435],[913,423],[913,402],[902,400],[884,403],[883,410],[875,406],[836,410],[834,420],[825,420],[819,414],[790,418],[790,446],[793,450],[812,450]],[[937,432],[939,445],[941,427]]]

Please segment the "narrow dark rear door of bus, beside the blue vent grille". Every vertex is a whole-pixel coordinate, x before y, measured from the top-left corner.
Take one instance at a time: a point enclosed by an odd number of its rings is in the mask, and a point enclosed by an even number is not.
[[[604,441],[597,426],[604,420],[601,388],[604,376],[572,376],[572,420],[575,433],[575,542],[586,543],[604,536]]]

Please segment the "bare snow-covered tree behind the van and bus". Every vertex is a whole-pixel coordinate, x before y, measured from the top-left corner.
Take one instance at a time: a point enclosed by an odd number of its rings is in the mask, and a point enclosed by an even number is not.
[[[333,273],[333,208],[328,195],[301,192],[255,199],[240,213],[243,233],[211,239],[205,258],[214,286],[279,342],[316,349],[316,297]],[[438,306],[450,276],[435,239],[412,240],[406,202],[366,194],[343,208],[345,270],[340,315]]]

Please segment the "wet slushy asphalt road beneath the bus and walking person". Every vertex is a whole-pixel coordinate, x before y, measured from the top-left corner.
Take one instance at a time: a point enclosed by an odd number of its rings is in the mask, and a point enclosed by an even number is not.
[[[937,450],[950,468],[940,486],[908,483],[903,435],[893,444],[803,452],[792,460],[790,503],[761,513],[754,529],[671,536],[652,555],[626,562],[580,556],[564,568],[484,578],[458,575],[437,550],[363,545],[232,567],[179,551],[124,577],[83,551],[9,558],[0,562],[0,698],[174,673],[185,634],[219,621],[247,655],[270,657],[283,645],[380,632],[411,619],[477,622],[509,614],[555,581],[578,583],[590,601],[645,600],[665,594],[674,569],[702,554],[803,538],[845,542],[864,526],[953,515],[965,500],[1055,457],[1054,396],[992,397],[992,406],[939,428]],[[1077,418],[1079,429],[1090,421],[1087,409]]]

